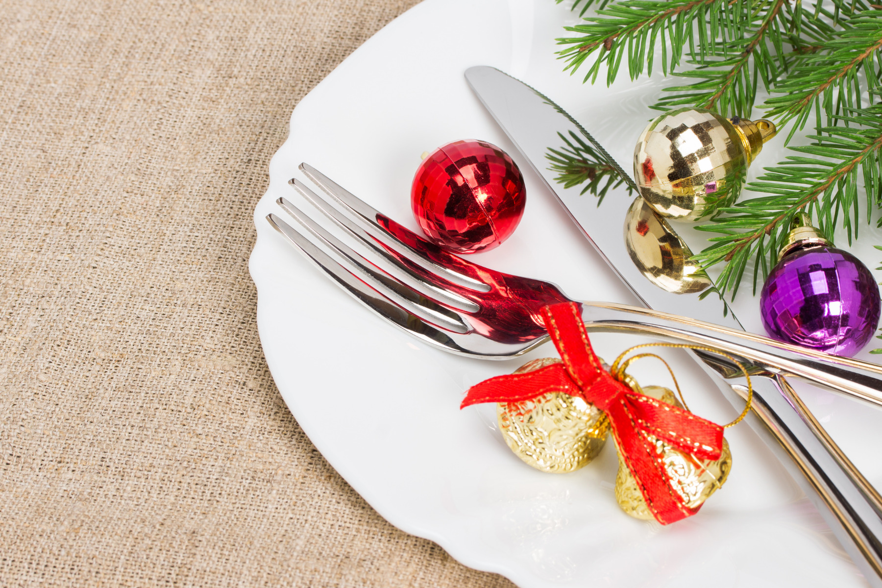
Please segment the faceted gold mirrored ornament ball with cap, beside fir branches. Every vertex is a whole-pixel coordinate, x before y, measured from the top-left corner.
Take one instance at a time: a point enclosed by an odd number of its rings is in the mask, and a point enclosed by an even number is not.
[[[668,219],[698,220],[735,202],[747,167],[774,137],[774,123],[724,118],[703,108],[670,110],[634,148],[640,195]]]

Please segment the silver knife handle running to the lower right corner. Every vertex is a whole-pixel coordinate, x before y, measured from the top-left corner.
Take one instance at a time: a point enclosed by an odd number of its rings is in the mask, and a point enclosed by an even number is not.
[[[727,383],[713,367],[703,361],[699,365],[734,406],[744,406],[744,383]],[[752,377],[751,384],[753,410],[746,421],[803,488],[868,584],[882,588],[882,501],[875,488],[842,454],[783,376]]]

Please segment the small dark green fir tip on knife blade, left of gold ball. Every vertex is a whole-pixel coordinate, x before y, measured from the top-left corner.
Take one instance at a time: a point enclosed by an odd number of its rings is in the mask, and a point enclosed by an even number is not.
[[[564,146],[560,149],[549,148],[549,153],[546,153],[545,157],[551,162],[549,169],[558,172],[555,180],[563,183],[564,188],[584,183],[585,187],[579,195],[590,192],[598,197],[598,206],[601,205],[603,197],[610,188],[618,188],[623,183],[628,194],[632,194],[630,178],[623,175],[621,168],[609,160],[609,155],[604,156],[605,153],[595,149],[594,145],[588,145],[572,130],[569,138],[560,132],[557,136],[564,142]],[[604,181],[606,183],[603,183]]]

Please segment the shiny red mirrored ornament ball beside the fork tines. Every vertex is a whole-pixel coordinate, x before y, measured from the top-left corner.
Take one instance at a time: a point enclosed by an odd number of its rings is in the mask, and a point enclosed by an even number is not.
[[[454,141],[422,160],[410,204],[430,241],[454,253],[489,251],[524,214],[524,179],[512,158],[486,141]]]

